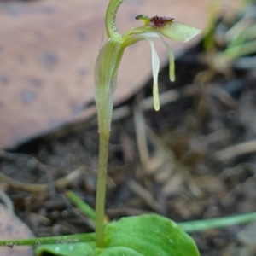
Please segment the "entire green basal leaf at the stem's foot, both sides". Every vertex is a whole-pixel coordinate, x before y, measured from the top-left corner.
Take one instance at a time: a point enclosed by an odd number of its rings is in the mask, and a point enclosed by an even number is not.
[[[104,246],[95,242],[39,246],[37,256],[198,256],[195,241],[175,222],[159,215],[120,218],[104,230]]]

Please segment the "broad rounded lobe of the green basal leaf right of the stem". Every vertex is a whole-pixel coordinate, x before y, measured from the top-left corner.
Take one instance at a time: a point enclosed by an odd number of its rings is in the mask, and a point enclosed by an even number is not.
[[[144,256],[199,255],[195,241],[175,222],[154,214],[120,218],[108,224],[104,245],[128,247]]]

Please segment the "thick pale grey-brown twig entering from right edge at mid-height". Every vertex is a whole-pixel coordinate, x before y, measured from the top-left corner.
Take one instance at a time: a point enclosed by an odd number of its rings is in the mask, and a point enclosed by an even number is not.
[[[221,161],[232,160],[233,158],[241,154],[249,154],[255,151],[256,151],[256,140],[253,140],[250,142],[240,143],[240,144],[230,146],[228,148],[218,150],[215,153],[215,158]]]

